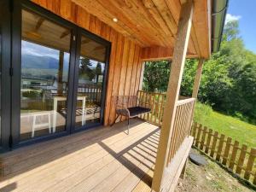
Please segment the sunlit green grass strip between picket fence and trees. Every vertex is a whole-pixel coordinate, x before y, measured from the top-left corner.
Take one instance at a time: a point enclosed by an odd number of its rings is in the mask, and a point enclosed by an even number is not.
[[[215,112],[211,107],[200,102],[196,103],[194,120],[241,144],[256,148],[256,125]]]

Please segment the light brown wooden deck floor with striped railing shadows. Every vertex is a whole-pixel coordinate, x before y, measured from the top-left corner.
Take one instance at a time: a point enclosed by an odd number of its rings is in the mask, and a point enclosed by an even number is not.
[[[0,191],[150,190],[160,129],[138,119],[0,155]]]

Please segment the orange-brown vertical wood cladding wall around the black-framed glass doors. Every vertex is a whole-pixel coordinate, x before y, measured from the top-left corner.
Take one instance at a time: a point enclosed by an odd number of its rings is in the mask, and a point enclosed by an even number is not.
[[[112,43],[104,113],[104,125],[109,125],[115,118],[112,96],[137,95],[142,71],[142,48],[70,0],[32,2]]]

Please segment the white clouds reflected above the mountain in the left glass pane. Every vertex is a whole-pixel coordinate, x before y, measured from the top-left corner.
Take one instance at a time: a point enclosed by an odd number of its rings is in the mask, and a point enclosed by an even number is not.
[[[55,59],[59,59],[59,50],[51,49],[39,44],[32,44],[30,42],[21,41],[21,53],[26,55],[35,55],[35,56],[49,56]]]

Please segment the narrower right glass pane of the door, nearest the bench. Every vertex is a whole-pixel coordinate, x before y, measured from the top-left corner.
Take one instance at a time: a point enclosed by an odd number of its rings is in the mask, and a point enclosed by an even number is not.
[[[75,112],[76,128],[101,122],[106,50],[106,45],[82,35],[79,53],[79,85]]]

